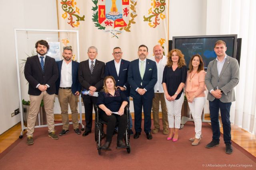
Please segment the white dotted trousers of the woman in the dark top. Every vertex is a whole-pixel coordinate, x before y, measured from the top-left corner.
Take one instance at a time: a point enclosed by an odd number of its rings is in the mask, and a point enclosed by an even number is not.
[[[168,112],[168,123],[169,128],[177,128],[180,129],[180,121],[181,121],[181,108],[184,102],[184,93],[181,94],[178,100],[168,101],[166,98],[166,107]]]

